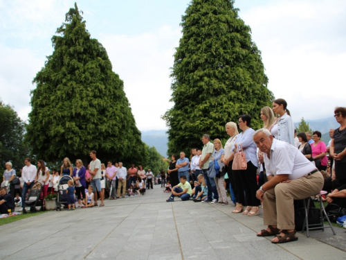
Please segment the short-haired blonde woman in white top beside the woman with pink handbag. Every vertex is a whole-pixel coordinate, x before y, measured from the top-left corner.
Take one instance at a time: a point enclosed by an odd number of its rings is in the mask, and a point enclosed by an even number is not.
[[[235,143],[235,139],[237,139],[237,136],[239,135],[237,124],[234,122],[228,122],[225,125],[226,133],[230,136],[230,139],[226,141],[225,144],[225,156],[224,156],[224,164],[225,164],[225,171],[228,175],[228,179],[230,180],[230,198],[233,202],[233,204],[237,203],[237,192],[235,190],[235,180],[233,178],[232,173],[232,164],[233,164],[233,155],[230,148]]]

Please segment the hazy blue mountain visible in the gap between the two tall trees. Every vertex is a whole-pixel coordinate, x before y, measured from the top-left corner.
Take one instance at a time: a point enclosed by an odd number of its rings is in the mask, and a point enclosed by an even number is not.
[[[155,146],[158,153],[163,157],[167,157],[167,130],[148,130],[142,131],[142,141],[148,146]]]

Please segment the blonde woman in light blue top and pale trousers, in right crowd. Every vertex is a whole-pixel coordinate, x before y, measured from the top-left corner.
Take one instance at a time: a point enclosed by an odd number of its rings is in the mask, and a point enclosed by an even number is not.
[[[225,156],[225,151],[224,148],[222,148],[222,144],[220,139],[214,139],[214,148],[215,151],[212,153],[212,158],[215,161],[215,164],[219,164],[219,173],[217,173],[215,177],[215,184],[217,186],[217,193],[219,194],[219,203],[224,205],[228,205],[227,201],[227,195],[226,195],[226,189],[224,187],[224,175],[225,171],[222,171],[222,168],[224,168],[224,156]],[[217,203],[217,202],[212,202],[212,203]]]

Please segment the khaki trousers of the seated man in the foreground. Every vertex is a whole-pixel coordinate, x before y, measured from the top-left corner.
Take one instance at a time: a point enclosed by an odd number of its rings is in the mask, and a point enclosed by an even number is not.
[[[318,171],[288,183],[279,183],[266,191],[263,197],[264,225],[278,229],[295,229],[293,200],[302,200],[316,195],[323,187],[324,179]]]

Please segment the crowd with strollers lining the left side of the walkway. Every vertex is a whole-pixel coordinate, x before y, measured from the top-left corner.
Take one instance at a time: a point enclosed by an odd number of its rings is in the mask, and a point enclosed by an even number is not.
[[[69,158],[64,158],[60,171],[53,169],[50,173],[44,160],[40,159],[37,166],[31,164],[31,159],[24,159],[25,166],[21,169],[21,177],[17,177],[11,162],[6,162],[6,171],[3,173],[3,201],[0,197],[1,214],[8,213],[8,209],[22,207],[26,214],[26,198],[33,185],[37,182],[42,184],[42,198],[48,193],[57,193],[60,179],[63,176],[71,177],[66,189],[68,201],[66,207],[73,210],[75,207],[103,207],[104,199],[116,200],[126,196],[144,196],[147,189],[153,189],[161,175],[161,170],[156,177],[148,168],[147,172],[143,166],[131,164],[130,168],[122,165],[122,162],[113,164],[107,161],[107,166],[96,157],[96,151],[90,153],[91,162],[85,167],[81,159],[76,159],[75,166]],[[13,180],[17,180],[13,184]],[[164,183],[164,182],[163,182]],[[6,195],[6,196],[5,196]],[[6,197],[6,198],[5,198]],[[2,201],[2,202],[1,202]],[[72,203],[73,202],[73,203]]]

